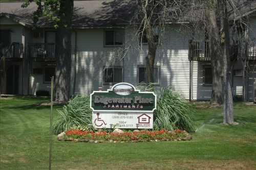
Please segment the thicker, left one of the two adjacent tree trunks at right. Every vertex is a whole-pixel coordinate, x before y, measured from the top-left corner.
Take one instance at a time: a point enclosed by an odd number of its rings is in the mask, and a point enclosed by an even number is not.
[[[207,6],[207,3],[206,3]],[[210,104],[223,104],[222,91],[222,58],[220,54],[219,45],[219,30],[216,21],[216,8],[206,7],[206,29],[209,38],[209,50],[212,70],[212,88]]]

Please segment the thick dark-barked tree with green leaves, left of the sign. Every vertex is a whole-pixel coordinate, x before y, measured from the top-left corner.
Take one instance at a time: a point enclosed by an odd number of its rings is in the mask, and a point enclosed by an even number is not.
[[[27,7],[32,0],[23,4]],[[56,28],[56,67],[54,77],[54,101],[69,101],[71,75],[71,21],[74,1],[66,0],[36,0],[37,10],[33,13],[33,21],[38,22],[41,16],[54,21]]]

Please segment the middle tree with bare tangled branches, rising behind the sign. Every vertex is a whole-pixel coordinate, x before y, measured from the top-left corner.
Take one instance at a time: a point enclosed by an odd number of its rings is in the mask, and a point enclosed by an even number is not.
[[[168,8],[170,9],[175,3],[166,0],[136,0],[135,2],[137,10],[132,22],[137,26],[137,34],[135,35],[139,36],[138,44],[141,49],[142,42],[145,39],[147,42],[145,77],[147,87],[152,88],[154,86],[157,47],[161,45],[161,35],[164,33],[165,21],[169,18],[170,11]]]

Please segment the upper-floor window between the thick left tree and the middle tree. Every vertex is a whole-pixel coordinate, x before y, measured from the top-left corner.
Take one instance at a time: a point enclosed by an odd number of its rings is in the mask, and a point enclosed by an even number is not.
[[[105,43],[104,45],[122,45],[123,32],[121,30],[105,30]]]

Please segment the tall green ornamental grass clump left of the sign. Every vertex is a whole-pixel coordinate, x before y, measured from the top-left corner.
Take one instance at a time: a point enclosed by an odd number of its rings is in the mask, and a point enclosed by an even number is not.
[[[78,94],[72,96],[69,104],[57,110],[57,120],[53,123],[52,132],[57,135],[74,127],[84,127],[92,124],[92,109],[90,109],[90,95]]]

